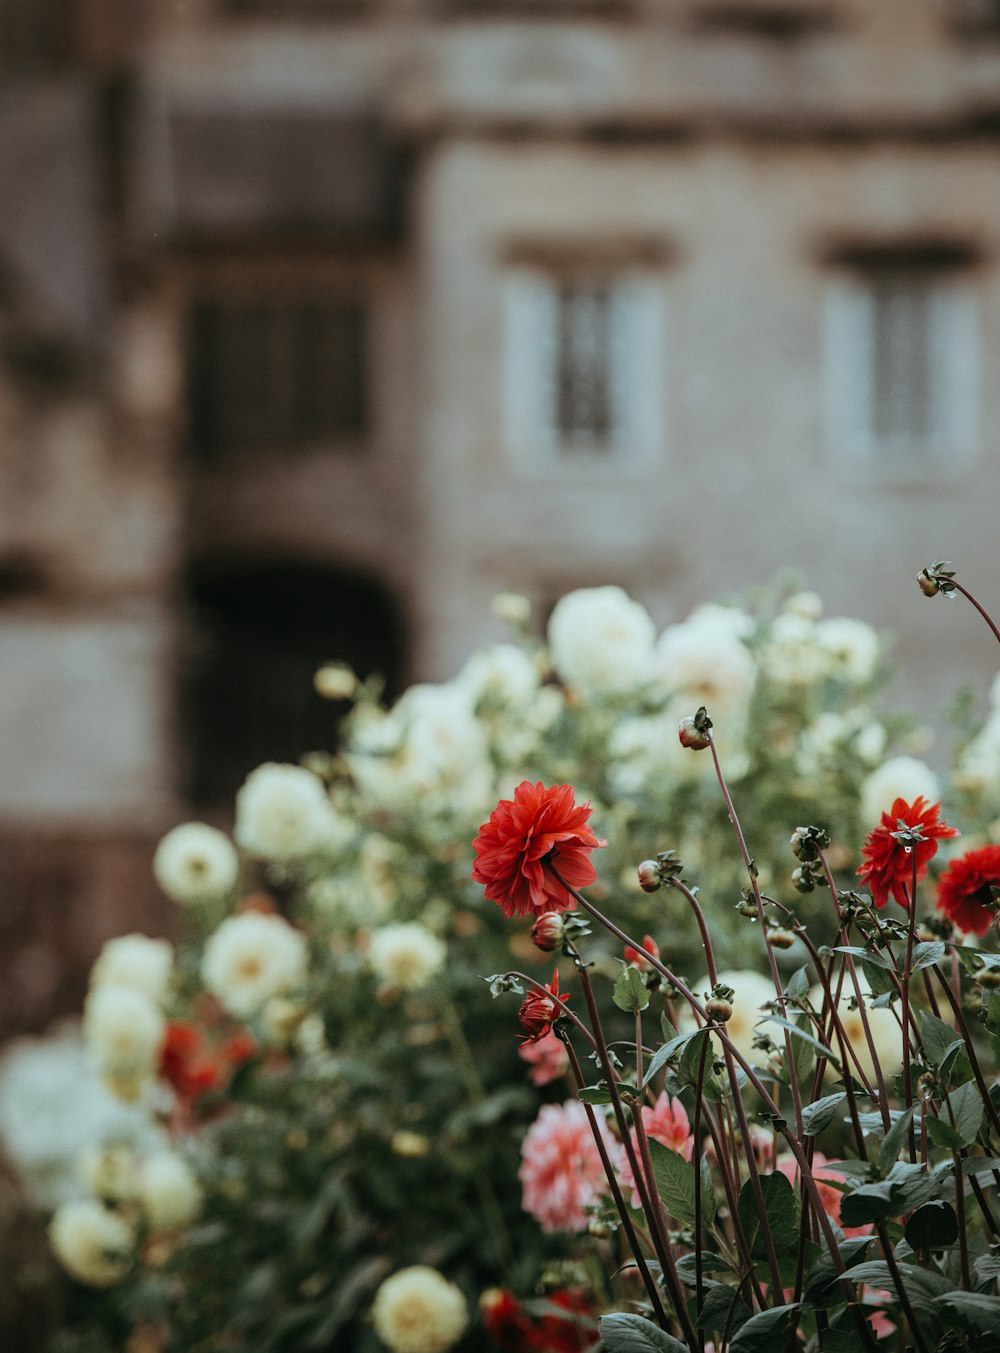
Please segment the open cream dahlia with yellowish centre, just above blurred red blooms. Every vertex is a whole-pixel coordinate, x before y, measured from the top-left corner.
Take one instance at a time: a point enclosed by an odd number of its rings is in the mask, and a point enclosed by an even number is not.
[[[280,916],[244,912],[230,916],[208,938],[202,981],[219,1004],[248,1019],[269,996],[306,977],[306,939]]]

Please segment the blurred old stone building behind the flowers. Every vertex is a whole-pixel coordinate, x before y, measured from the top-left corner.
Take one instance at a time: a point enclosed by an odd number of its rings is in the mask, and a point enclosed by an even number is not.
[[[982,687],[999,147],[996,0],[0,0],[0,1028],[501,589]]]

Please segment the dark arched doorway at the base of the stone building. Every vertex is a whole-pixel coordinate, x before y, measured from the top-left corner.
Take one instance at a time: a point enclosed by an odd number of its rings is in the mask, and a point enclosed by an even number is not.
[[[333,750],[346,705],[317,695],[325,662],[373,672],[398,694],[399,607],[376,578],[287,559],[199,563],[187,576],[189,643],[183,710],[184,790],[199,809],[230,806],[265,760]]]

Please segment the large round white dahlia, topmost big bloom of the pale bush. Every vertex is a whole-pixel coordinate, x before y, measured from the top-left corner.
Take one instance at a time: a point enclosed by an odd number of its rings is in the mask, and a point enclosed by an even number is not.
[[[567,593],[548,622],[552,666],[585,694],[633,690],[644,682],[655,637],[645,607],[621,587]]]

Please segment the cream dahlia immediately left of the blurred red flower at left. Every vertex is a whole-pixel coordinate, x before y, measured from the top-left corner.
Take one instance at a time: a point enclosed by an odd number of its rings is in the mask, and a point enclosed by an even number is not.
[[[134,986],[91,989],[84,1004],[87,1051],[100,1078],[119,1099],[138,1099],[153,1077],[165,1027],[156,1004]]]

